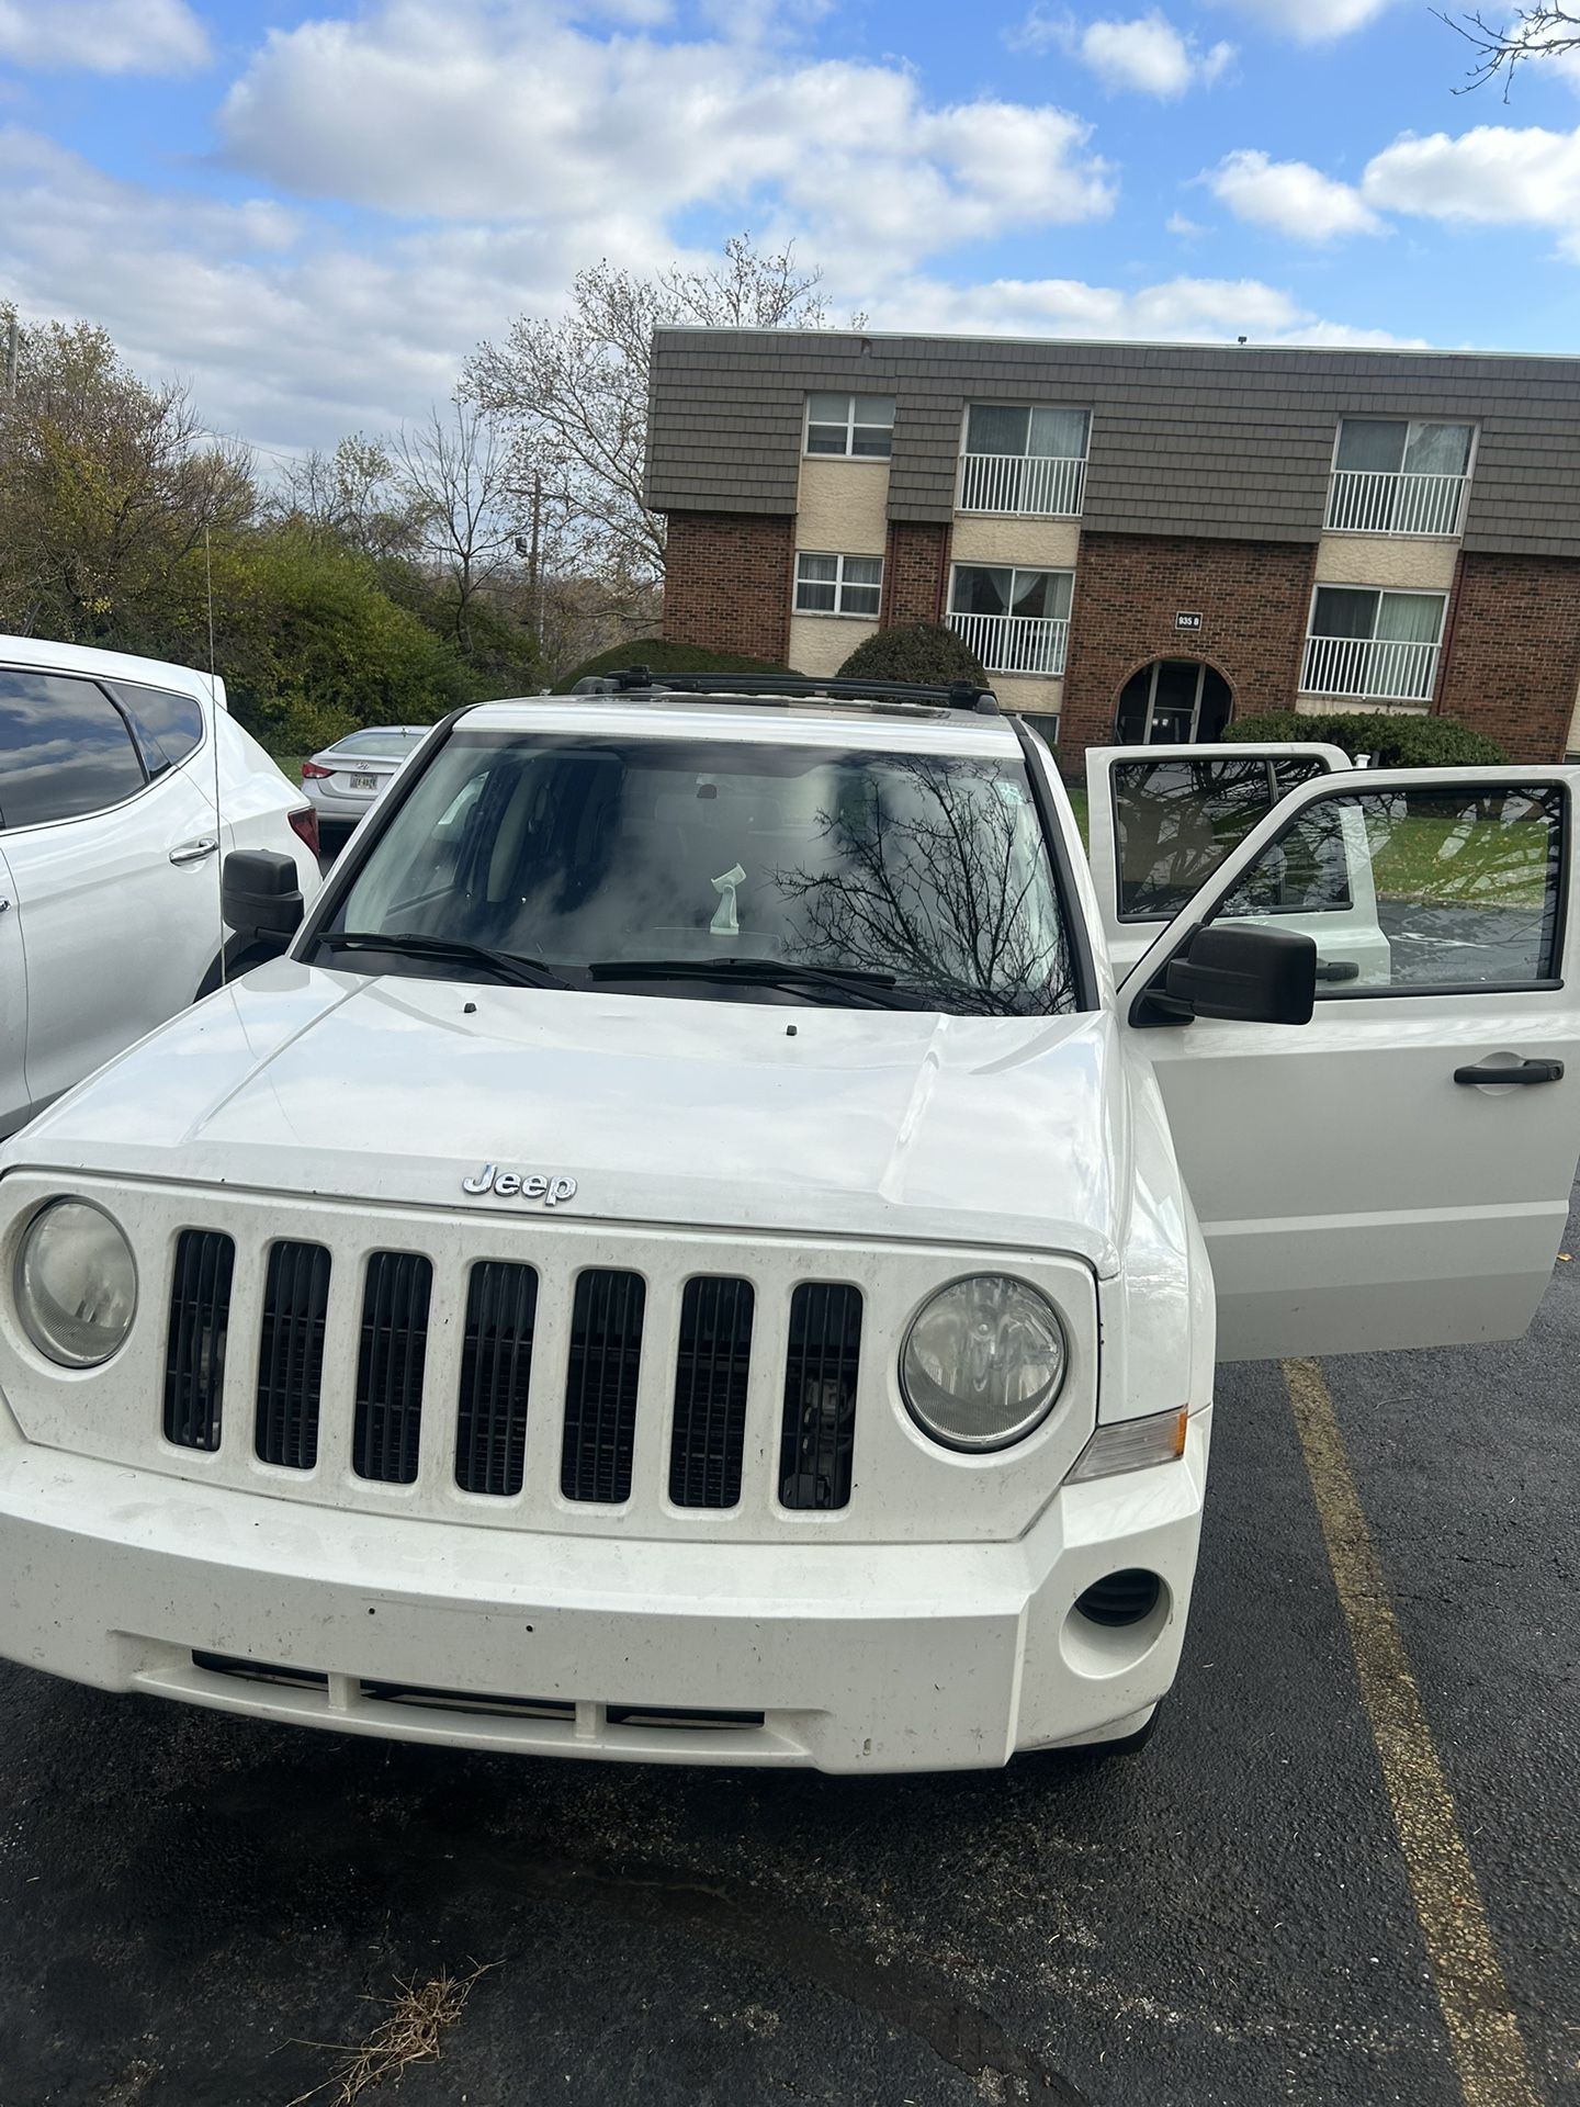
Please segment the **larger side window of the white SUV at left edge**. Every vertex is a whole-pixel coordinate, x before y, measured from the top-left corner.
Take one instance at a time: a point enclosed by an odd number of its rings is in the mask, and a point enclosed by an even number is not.
[[[0,826],[103,811],[145,782],[126,718],[101,687],[0,670]]]

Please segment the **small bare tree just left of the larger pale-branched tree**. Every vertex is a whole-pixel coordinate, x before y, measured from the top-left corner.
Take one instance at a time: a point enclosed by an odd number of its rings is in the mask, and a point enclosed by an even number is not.
[[[449,413],[436,407],[396,438],[394,485],[417,523],[419,554],[449,579],[455,641],[470,651],[474,603],[516,556],[510,449],[497,421],[468,400]]]

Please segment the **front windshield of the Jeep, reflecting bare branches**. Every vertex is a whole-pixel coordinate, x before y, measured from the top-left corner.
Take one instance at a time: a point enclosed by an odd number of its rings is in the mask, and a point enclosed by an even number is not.
[[[847,1001],[817,969],[883,976],[937,1009],[1077,1007],[1020,754],[457,731],[329,931],[463,942],[571,986],[594,967],[619,984],[611,969],[632,965],[647,967],[632,990],[731,999],[752,982],[761,1001],[777,965],[801,969],[777,999]],[[466,971],[362,957],[373,971]]]

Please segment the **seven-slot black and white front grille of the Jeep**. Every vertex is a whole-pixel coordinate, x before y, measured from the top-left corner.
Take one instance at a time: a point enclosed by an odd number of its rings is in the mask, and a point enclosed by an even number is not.
[[[535,1266],[478,1260],[447,1296],[463,1296],[459,1367],[449,1405],[434,1395],[428,1359],[436,1319],[434,1260],[419,1252],[373,1252],[350,1277],[322,1243],[272,1241],[261,1294],[238,1302],[236,1323],[255,1338],[255,1370],[232,1342],[232,1380],[253,1386],[251,1448],[265,1464],[350,1469],[369,1483],[428,1483],[434,1471],[489,1500],[533,1492],[529,1483],[529,1397],[535,1412],[556,1401],[558,1496],[592,1504],[632,1498],[638,1403],[664,1414],[664,1490],[676,1509],[735,1509],[744,1494],[748,1401],[773,1380],[777,1429],[758,1448],[763,1492],[779,1509],[841,1509],[851,1498],[862,1292],[801,1283],[773,1311],[767,1351],[784,1355],[784,1376],[758,1370],[765,1311],[752,1281],[693,1275],[655,1308],[640,1273],[581,1268],[573,1277]],[[166,1334],[164,1431],[194,1450],[221,1448],[221,1386],[232,1325],[234,1243],[213,1230],[177,1239]],[[238,1289],[240,1294],[240,1289]],[[548,1323],[548,1334],[546,1334]],[[337,1334],[354,1327],[337,1355]],[[438,1334],[436,1334],[438,1336]],[[537,1363],[550,1351],[552,1363]],[[331,1414],[335,1365],[354,1399]],[[645,1382],[659,1353],[661,1386]],[[651,1372],[653,1376],[657,1370]],[[554,1399],[554,1393],[558,1397]],[[348,1424],[350,1420],[350,1424]],[[339,1426],[339,1437],[324,1433]],[[333,1454],[327,1441],[348,1443]],[[432,1454],[434,1445],[438,1454]],[[539,1462],[550,1458],[541,1443]],[[423,1462],[428,1458],[428,1462]],[[440,1462],[442,1458],[442,1462]],[[539,1496],[548,1490],[539,1473]],[[758,1494],[761,1498],[763,1494]]]

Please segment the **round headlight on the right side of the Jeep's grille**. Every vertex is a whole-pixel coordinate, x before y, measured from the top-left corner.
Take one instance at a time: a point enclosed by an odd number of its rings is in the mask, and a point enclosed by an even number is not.
[[[921,1308],[900,1355],[900,1389],[933,1441],[994,1450],[1041,1426],[1064,1365],[1064,1327],[1043,1296],[1003,1273],[977,1273]]]

